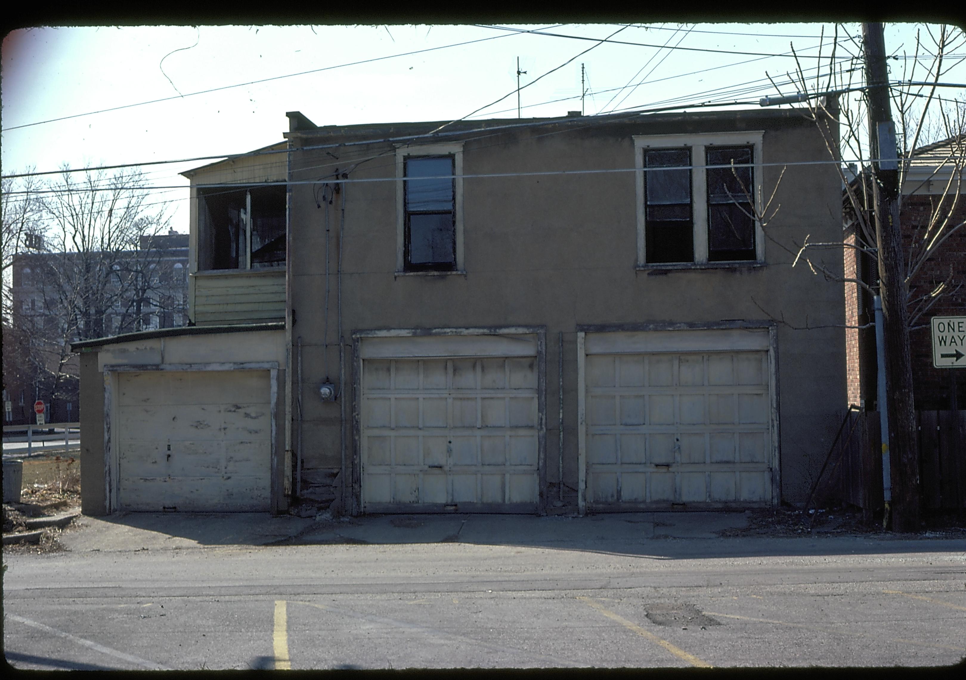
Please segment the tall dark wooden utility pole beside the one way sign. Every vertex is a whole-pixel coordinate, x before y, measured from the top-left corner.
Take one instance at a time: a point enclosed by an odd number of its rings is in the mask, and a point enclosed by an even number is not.
[[[889,102],[889,71],[883,25],[864,23],[862,37],[866,52],[869,155],[874,180],[875,241],[888,390],[886,403],[878,406],[879,412],[888,413],[889,418],[893,528],[896,531],[915,531],[919,529],[920,522],[919,446],[912,392],[908,295],[901,270],[903,257],[895,124]],[[889,512],[887,503],[884,521],[888,520]]]

